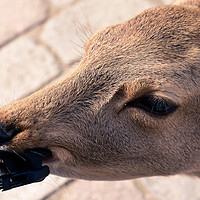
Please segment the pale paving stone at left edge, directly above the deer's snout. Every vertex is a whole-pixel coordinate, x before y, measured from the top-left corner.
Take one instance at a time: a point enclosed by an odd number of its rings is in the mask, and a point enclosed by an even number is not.
[[[0,50],[0,107],[39,89],[60,73],[52,54],[30,38]]]

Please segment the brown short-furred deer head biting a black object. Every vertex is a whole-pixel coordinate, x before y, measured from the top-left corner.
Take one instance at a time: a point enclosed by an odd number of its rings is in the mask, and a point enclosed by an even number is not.
[[[2,107],[1,150],[48,149],[50,172],[75,179],[200,176],[199,86],[200,1],[150,8],[95,33],[65,80]]]

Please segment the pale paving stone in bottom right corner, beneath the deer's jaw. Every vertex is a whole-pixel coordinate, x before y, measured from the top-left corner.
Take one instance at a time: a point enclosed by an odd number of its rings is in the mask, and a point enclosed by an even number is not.
[[[148,200],[199,200],[200,179],[189,176],[152,177],[137,180]]]

